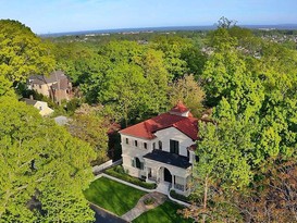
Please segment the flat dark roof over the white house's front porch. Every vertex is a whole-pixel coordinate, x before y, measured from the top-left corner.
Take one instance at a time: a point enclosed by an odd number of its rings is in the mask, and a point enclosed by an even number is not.
[[[182,157],[175,153],[165,152],[158,149],[154,149],[152,152],[145,154],[144,158],[182,169],[187,169],[191,165],[187,157]]]

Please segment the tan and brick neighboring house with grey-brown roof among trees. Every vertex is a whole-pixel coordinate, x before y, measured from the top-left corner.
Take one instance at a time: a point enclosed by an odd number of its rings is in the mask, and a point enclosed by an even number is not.
[[[57,103],[72,98],[72,84],[62,71],[52,72],[49,76],[30,76],[28,88],[51,98]]]

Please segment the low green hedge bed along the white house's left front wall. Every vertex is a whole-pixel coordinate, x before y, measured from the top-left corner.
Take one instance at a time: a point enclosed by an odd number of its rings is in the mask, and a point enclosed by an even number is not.
[[[150,183],[146,183],[139,178],[133,177],[131,175],[128,175],[127,173],[125,173],[125,170],[123,169],[122,165],[116,165],[114,168],[111,168],[109,170],[106,170],[106,174],[109,174],[111,176],[114,176],[116,178],[121,178],[125,182],[138,185],[140,187],[147,188],[147,189],[154,189],[157,188],[157,184],[150,184]]]

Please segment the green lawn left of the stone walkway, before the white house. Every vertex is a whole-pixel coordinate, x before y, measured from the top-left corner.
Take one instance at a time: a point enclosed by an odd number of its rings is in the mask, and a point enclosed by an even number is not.
[[[89,201],[121,216],[134,208],[146,193],[101,177],[92,182],[84,194]]]

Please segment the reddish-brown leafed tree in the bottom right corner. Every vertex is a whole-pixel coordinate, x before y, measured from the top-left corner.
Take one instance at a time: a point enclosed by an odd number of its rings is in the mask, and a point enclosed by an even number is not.
[[[262,166],[265,173],[257,176],[249,194],[237,195],[246,222],[297,221],[296,164],[296,159],[279,157]]]

